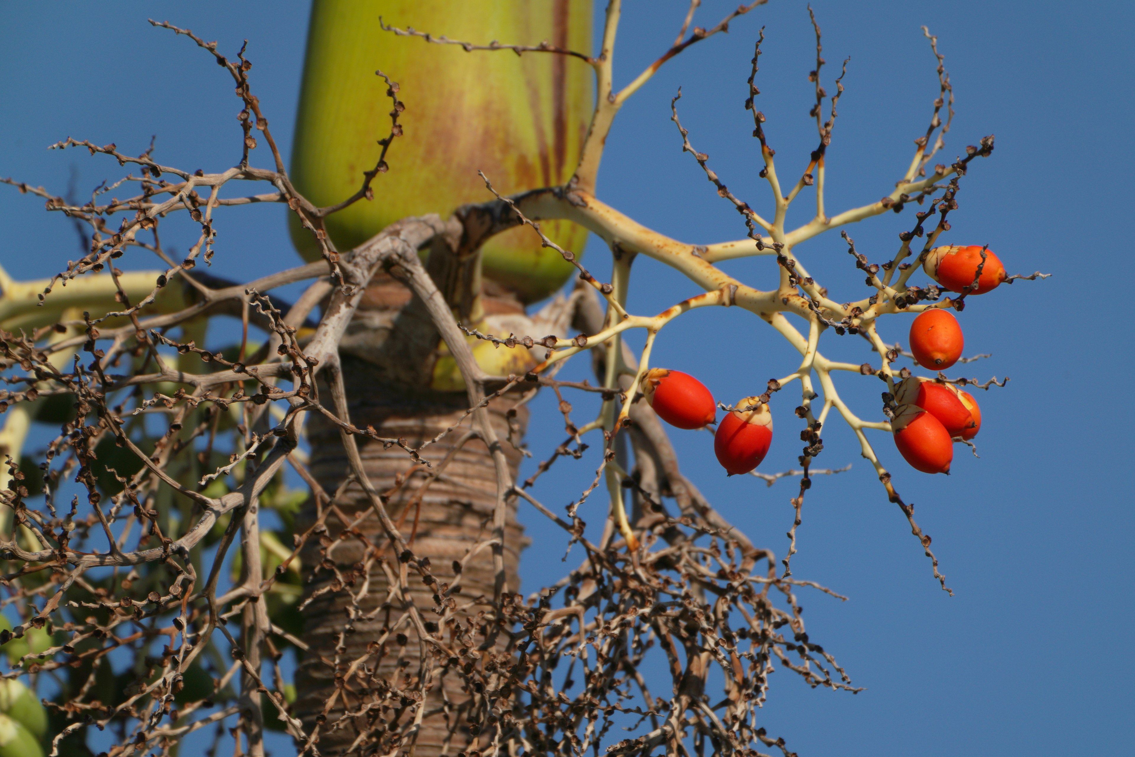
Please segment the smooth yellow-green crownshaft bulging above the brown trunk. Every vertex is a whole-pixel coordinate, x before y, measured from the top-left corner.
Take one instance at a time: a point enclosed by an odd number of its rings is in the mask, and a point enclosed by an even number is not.
[[[390,129],[390,100],[381,69],[401,85],[404,136],[387,153],[389,171],[376,177],[375,199],[335,213],[327,229],[350,249],[405,216],[448,216],[491,195],[477,176],[511,194],[565,183],[579,160],[591,113],[591,69],[575,58],[511,51],[465,52],[456,45],[395,36],[400,28],[485,44],[539,44],[591,49],[591,0],[316,0],[308,33],[303,90],[296,119],[292,178],[317,205],[359,190],[375,167],[377,141]],[[587,233],[548,221],[545,233],[579,253]],[[292,218],[296,249],[319,255],[310,234]],[[557,289],[572,267],[541,249],[531,229],[518,228],[485,245],[484,274],[524,302]]]

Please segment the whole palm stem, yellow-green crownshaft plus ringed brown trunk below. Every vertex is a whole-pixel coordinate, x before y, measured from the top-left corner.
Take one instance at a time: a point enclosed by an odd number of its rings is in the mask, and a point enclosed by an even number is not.
[[[503,193],[568,182],[591,112],[591,72],[586,64],[563,56],[518,58],[512,52],[469,53],[460,47],[427,44],[382,31],[379,16],[403,30],[412,26],[477,44],[499,40],[531,45],[547,40],[560,48],[589,51],[591,47],[591,0],[316,0],[292,161],[297,190],[317,205],[330,205],[354,193],[363,171],[375,167],[380,152],[376,141],[386,135],[390,123],[390,100],[376,69],[400,83],[397,99],[405,103],[398,117],[404,136],[387,153],[389,170],[371,185],[373,200],[360,201],[326,220],[325,228],[339,250],[370,238],[402,217],[436,212],[445,218],[464,203],[490,197],[477,176],[479,169]],[[586,232],[579,227],[549,222],[544,230],[565,249],[582,251]],[[306,232],[293,226],[293,238],[300,253],[311,259],[313,246]],[[435,244],[428,269],[455,317],[494,333],[511,328],[494,318],[523,319],[524,303],[546,297],[573,272],[557,253],[541,249],[530,229],[514,229],[479,250],[459,251],[456,239]],[[376,279],[340,345],[351,422],[360,428],[373,426],[380,436],[404,438],[413,447],[456,423],[468,409],[460,379],[454,386],[452,370],[448,377],[443,375],[438,334],[420,304],[396,281]],[[514,330],[528,333],[522,326]],[[482,368],[496,375],[511,372],[484,363]],[[320,396],[328,396],[327,387],[320,388]],[[490,405],[489,415],[497,436],[519,445],[527,411],[520,407],[510,419],[506,413],[514,403],[502,397]],[[456,581],[454,561],[465,561],[461,594],[455,597],[464,606],[459,616],[488,609],[495,583],[491,548],[466,560],[474,545],[491,536],[497,494],[488,449],[478,438],[466,438],[468,428],[466,420],[463,428],[423,452],[435,466],[452,453],[444,473],[424,494],[428,473],[414,470],[403,449],[360,439],[367,476],[376,490],[389,493],[387,512],[401,521],[403,536],[414,535],[414,554],[429,558],[434,575],[451,586]],[[334,494],[348,471],[339,431],[316,418],[309,437],[312,473]],[[507,441],[502,445],[515,474],[520,453]],[[370,511],[356,483],[347,486],[340,499],[348,521]],[[318,516],[313,501],[303,515],[309,523]],[[338,514],[326,524],[322,542],[334,544],[331,557],[325,560],[319,545],[309,545],[304,561],[306,566],[314,565],[305,583],[310,602],[304,609],[303,639],[310,649],[296,675],[294,710],[309,733],[320,725],[320,752],[370,754],[375,745],[356,740],[360,729],[372,726],[367,717],[328,729],[342,713],[356,712],[368,695],[402,689],[407,676],[412,688],[421,661],[413,634],[403,646],[395,631],[367,682],[355,676],[345,683],[337,678],[401,614],[396,606],[384,607],[390,587],[379,565],[371,565],[365,574],[356,572],[367,558],[367,544],[390,561],[395,574],[398,563],[373,515],[343,540],[337,540],[344,529]],[[503,545],[510,591],[520,588],[523,544],[522,529],[510,508]],[[411,599],[422,609],[423,620],[436,620],[432,590],[420,581],[410,584]],[[478,603],[481,596],[486,599]],[[375,657],[368,665],[376,666]],[[434,682],[414,740],[417,757],[465,749],[471,737],[463,722],[455,724],[454,710],[468,696],[455,675]],[[375,710],[369,716],[388,720],[392,714]]]

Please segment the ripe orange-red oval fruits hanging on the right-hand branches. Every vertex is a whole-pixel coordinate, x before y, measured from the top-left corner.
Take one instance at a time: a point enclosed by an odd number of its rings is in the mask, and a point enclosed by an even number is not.
[[[958,293],[984,294],[1006,279],[997,255],[977,246],[935,247],[923,267],[942,287]],[[923,368],[943,370],[953,365],[961,358],[964,344],[958,320],[945,310],[927,310],[910,326],[910,352]],[[647,371],[642,395],[662,420],[681,429],[699,429],[717,418],[717,404],[709,389],[681,371]],[[977,402],[951,384],[911,376],[896,388],[894,403],[894,444],[910,466],[924,473],[949,473],[953,440],[968,441],[982,427]],[[717,427],[714,452],[730,476],[748,473],[764,460],[772,440],[768,405],[760,397],[745,397]]]

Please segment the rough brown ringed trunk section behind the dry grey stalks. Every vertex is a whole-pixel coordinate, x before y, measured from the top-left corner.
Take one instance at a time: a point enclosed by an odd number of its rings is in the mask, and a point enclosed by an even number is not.
[[[464,411],[464,406],[453,397],[410,396],[396,392],[393,387],[371,384],[370,371],[365,364],[360,364],[360,361],[347,360],[344,369],[347,371],[347,392],[356,397],[356,401],[351,403],[353,420],[373,424],[384,436],[404,437],[409,444],[420,445],[453,426]],[[498,409],[490,412],[497,434],[502,438],[505,437],[508,432],[506,419]],[[518,420],[523,427],[527,419],[521,417]],[[342,452],[337,429],[328,426],[313,424],[311,429],[311,440],[316,449],[312,464],[318,479],[327,487],[334,487],[342,480],[347,462]],[[460,432],[451,435],[431,447],[430,454],[423,456],[437,465],[446,454],[454,451],[463,436]],[[368,443],[361,446],[360,452],[367,474],[379,491],[394,488],[410,468],[406,464],[407,456],[397,447],[384,449],[381,444]],[[518,463],[519,455],[511,455],[510,464],[514,472]],[[396,521],[403,520],[404,533],[417,531],[412,544],[414,554],[429,557],[434,575],[439,581],[453,584],[456,579],[453,563],[466,558],[470,549],[491,533],[493,508],[496,502],[493,461],[480,440],[466,441],[456,451],[445,477],[434,481],[428,493],[421,497],[420,506],[415,507],[413,501],[419,495],[423,480],[423,476],[415,476],[409,486],[403,486],[390,498],[387,508]],[[346,499],[348,504],[342,510],[348,518],[370,512],[370,503],[358,485],[348,488]],[[415,522],[414,529],[412,524]],[[342,525],[335,523],[328,530],[328,536],[335,539],[342,531]],[[375,518],[363,521],[358,530],[361,539],[346,540],[335,552],[335,562],[340,571],[351,571],[354,563],[365,558],[367,547],[363,540],[379,548],[386,546],[384,556],[396,566],[397,556],[389,548],[389,542],[385,540]],[[515,508],[511,507],[505,528],[504,563],[507,586],[512,590],[518,586],[516,569],[523,544],[523,530],[516,522]],[[472,602],[473,606],[462,613],[463,615],[489,608],[494,577],[491,549],[481,549],[465,563],[461,591],[455,599],[462,604]],[[308,586],[308,591],[313,594],[326,589],[335,583],[335,580],[334,573],[323,572]],[[356,579],[353,587],[347,587],[347,591],[359,592],[361,584],[361,579]],[[312,654],[305,656],[300,666],[297,689],[301,697],[297,701],[297,712],[306,721],[305,725],[309,729],[320,715],[323,715],[326,703],[336,691],[335,676],[338,668],[328,666],[322,658],[358,659],[367,654],[368,645],[389,630],[390,624],[402,614],[397,602],[385,602],[389,588],[389,582],[379,569],[370,571],[367,591],[355,605],[356,612],[367,620],[350,621],[348,612],[354,602],[347,591],[325,594],[305,609],[304,638],[312,646]],[[410,595],[427,619],[436,617],[428,609],[434,607],[432,589],[421,582],[411,582]],[[478,597],[480,602],[477,602]],[[344,628],[348,624],[353,632],[344,636]],[[405,631],[406,628],[403,626],[401,630]],[[418,645],[412,640],[405,646],[400,646],[396,633],[397,630],[387,642],[386,654],[373,673],[372,685],[368,689],[353,684],[343,689],[339,701],[326,716],[328,723],[334,723],[344,712],[344,707],[358,710],[364,706],[372,699],[371,695],[380,691],[385,684],[406,690],[415,688],[421,662]],[[452,705],[448,716],[439,712],[443,690],[445,700]],[[440,687],[435,683],[417,738],[415,755],[438,755],[446,747],[448,754],[455,754],[466,746],[468,730],[456,723],[461,714],[461,704],[466,699],[468,695],[462,691],[462,683],[456,676],[443,678]],[[355,743],[359,725],[367,727],[370,723],[345,724],[345,727],[337,731],[325,732],[319,741],[320,751],[325,755],[347,754]],[[367,752],[360,750],[359,754]]]

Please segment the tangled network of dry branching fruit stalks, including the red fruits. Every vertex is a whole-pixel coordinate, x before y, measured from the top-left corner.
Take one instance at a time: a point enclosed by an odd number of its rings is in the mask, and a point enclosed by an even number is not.
[[[714,191],[741,215],[748,235],[688,244],[658,234],[595,196],[596,175],[628,98],[667,60],[728,31],[762,2],[690,31],[698,5],[693,0],[675,42],[621,91],[612,85],[617,0],[607,6],[597,54],[546,42],[486,44],[384,26],[392,35],[456,44],[473,56],[564,56],[568,65],[594,69],[597,104],[566,184],[506,196],[494,188],[493,176],[482,175],[491,192],[485,202],[447,219],[405,218],[352,250],[336,249],[326,221],[354,203],[373,202],[372,184],[384,180],[388,168],[397,170],[398,119],[413,108],[413,93],[405,93],[409,106],[403,104],[398,85],[378,73],[392,102],[381,155],[358,191],[317,207],[289,179],[252,92],[244,49],[226,58],[216,43],[167,23],[154,26],[188,37],[232,76],[241,104],[238,165],[216,173],[183,170],[159,162],[152,144],[135,157],[115,144],[67,138],[53,146],[109,158],[127,174],[85,203],[5,179],[44,199],[49,211],[84,224],[89,243],[49,280],[7,275],[0,280],[7,387],[0,390],[6,455],[0,582],[9,625],[0,642],[9,663],[6,691],[24,703],[24,709],[9,707],[2,717],[19,738],[26,735],[19,754],[39,754],[40,743],[43,754],[82,754],[89,741],[116,757],[166,755],[197,738],[211,740],[209,754],[235,739],[237,754],[262,755],[267,729],[291,735],[300,755],[415,749],[582,755],[603,748],[644,757],[766,749],[787,756],[793,752],[784,739],[760,725],[770,673],[782,666],[812,687],[858,691],[805,630],[796,592],[807,587],[840,595],[792,574],[804,502],[814,476],[847,470],[814,468],[824,448],[821,434],[840,426],[838,418],[949,590],[930,536],[897,489],[897,480],[923,473],[892,474],[874,445],[893,436],[917,470],[949,470],[953,441],[972,445],[980,427],[977,403],[965,389],[987,389],[991,382],[943,372],[919,378],[899,363],[910,359],[944,371],[965,362],[960,342],[956,350],[951,342],[960,339],[960,330],[949,312],[987,292],[989,277],[995,279],[992,286],[1018,278],[1007,276],[987,247],[938,245],[958,209],[964,177],[991,154],[993,137],[952,162],[934,162],[945,148],[953,93],[936,39],[927,32],[940,89],[901,179],[878,200],[830,212],[825,157],[847,61],[829,93],[813,16],[809,116],[816,148],[806,168],[785,178],[766,133],[772,125],[758,109],[762,30],[754,34],[745,107],[772,202],[750,204],[726,186],[717,163],[696,149],[696,132],[680,120],[679,92],[672,102],[675,149],[692,155]],[[739,72],[739,81],[743,77]],[[252,165],[261,143],[272,168]],[[261,191],[260,184],[268,186]],[[238,188],[245,186],[254,188]],[[124,190],[128,199],[107,199]],[[814,216],[787,227],[789,207],[809,194]],[[236,222],[229,209],[266,202],[288,208],[322,260],[245,283],[202,274],[200,264],[215,256],[217,225],[222,217]],[[865,291],[847,301],[830,293],[809,272],[814,263],[798,253],[825,232],[908,205],[915,218],[885,262],[871,262],[842,232],[851,260],[839,264],[854,264],[866,277]],[[768,212],[758,212],[764,207]],[[179,261],[159,233],[171,215],[188,216],[199,229]],[[541,221],[554,219],[573,221],[609,246],[609,281],[597,279],[577,252],[541,230]],[[512,321],[462,317],[453,292],[443,287],[445,261],[476,260],[486,241],[519,226],[578,269],[575,287]],[[429,251],[427,262],[419,251]],[[127,255],[154,255],[162,268],[126,272],[117,266]],[[777,263],[764,288],[717,267],[757,255]],[[676,269],[701,293],[654,316],[629,312],[632,262],[640,256]],[[649,264],[634,270],[650,276]],[[935,283],[911,285],[918,271]],[[271,294],[299,281],[310,284],[294,303]],[[437,364],[447,360],[453,367],[451,388],[464,393],[446,420],[421,438],[352,421],[359,415],[359,387],[344,369],[344,354],[376,286],[405,293],[400,312],[414,309],[431,350],[443,345]],[[696,378],[651,364],[664,328],[706,306],[735,308],[738,318],[763,320],[801,356],[753,396],[723,404],[725,417],[715,432],[717,454],[731,472],[751,473],[770,486],[799,477],[782,561],[706,501],[682,473],[664,430],[663,421],[711,431],[716,423],[717,403]],[[207,347],[208,320],[222,316],[239,319],[242,337]],[[928,316],[941,322],[922,331],[916,326],[911,352],[884,340],[884,317],[910,328],[911,320],[928,323],[919,320]],[[510,330],[487,333],[493,323]],[[630,329],[646,334],[640,354],[623,339]],[[821,352],[823,337],[847,335],[866,340],[863,363]],[[596,384],[556,379],[580,353],[591,356]],[[493,362],[486,354],[507,359]],[[501,364],[519,369],[493,369]],[[851,412],[836,377],[882,390],[878,415]],[[519,481],[516,465],[531,454],[521,445],[524,405],[540,387],[558,399],[565,439]],[[597,417],[574,420],[571,393],[598,394]],[[789,398],[793,393],[796,401]],[[757,471],[768,445],[783,444],[773,441],[767,410],[776,402],[796,404],[804,443],[799,469]],[[36,436],[33,423],[58,431]],[[337,478],[313,466],[305,438],[312,428],[321,429],[321,444],[342,445],[335,453]],[[42,448],[31,448],[41,437]],[[557,460],[582,457],[589,444],[602,446],[598,469],[580,477],[579,495],[557,514],[537,498],[536,483]],[[461,554],[445,564],[436,556],[431,562],[419,542],[423,502],[431,487],[463,486],[453,471],[473,447],[490,461],[488,510],[474,513],[480,530],[473,529]],[[380,455],[400,471],[390,480],[372,476],[370,465]],[[301,480],[301,488],[288,483]],[[600,487],[606,512],[592,497]],[[582,555],[557,583],[524,598],[506,545],[515,539],[513,512],[529,506],[562,528],[569,548],[579,545]],[[585,516],[604,522],[597,540],[588,537]],[[334,614],[319,611],[322,636],[311,630],[318,608],[334,608]],[[653,659],[663,662],[669,679],[644,675],[644,663]],[[318,699],[296,697],[294,661],[301,661],[306,681],[323,687]],[[713,681],[721,688],[714,690]],[[620,740],[623,727],[632,735]],[[6,748],[0,745],[0,754],[16,754]]]

